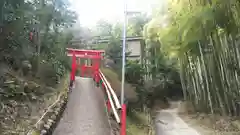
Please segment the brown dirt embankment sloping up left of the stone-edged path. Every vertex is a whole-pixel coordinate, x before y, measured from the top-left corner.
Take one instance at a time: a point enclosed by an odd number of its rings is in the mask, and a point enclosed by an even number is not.
[[[64,86],[52,88],[0,65],[0,133],[26,135],[57,100]],[[63,80],[62,80],[63,81]]]

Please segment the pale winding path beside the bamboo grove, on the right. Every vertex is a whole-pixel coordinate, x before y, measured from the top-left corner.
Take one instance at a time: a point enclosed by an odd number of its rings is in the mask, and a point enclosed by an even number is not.
[[[178,115],[177,108],[162,110],[156,118],[157,135],[200,135]]]

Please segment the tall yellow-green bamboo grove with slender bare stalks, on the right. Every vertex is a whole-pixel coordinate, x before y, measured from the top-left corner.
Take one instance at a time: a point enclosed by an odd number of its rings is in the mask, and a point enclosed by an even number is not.
[[[169,1],[167,26],[151,29],[161,51],[178,59],[185,100],[196,111],[236,115],[240,98],[240,2]],[[162,16],[158,15],[157,17]],[[150,22],[151,23],[151,22]]]

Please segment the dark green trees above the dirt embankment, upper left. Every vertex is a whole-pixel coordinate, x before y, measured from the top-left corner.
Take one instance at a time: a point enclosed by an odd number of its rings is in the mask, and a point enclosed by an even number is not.
[[[65,48],[72,39],[67,30],[76,19],[68,6],[65,0],[1,1],[0,59],[16,70],[28,60],[37,76],[40,65],[49,63],[55,76],[63,76],[69,69]]]

